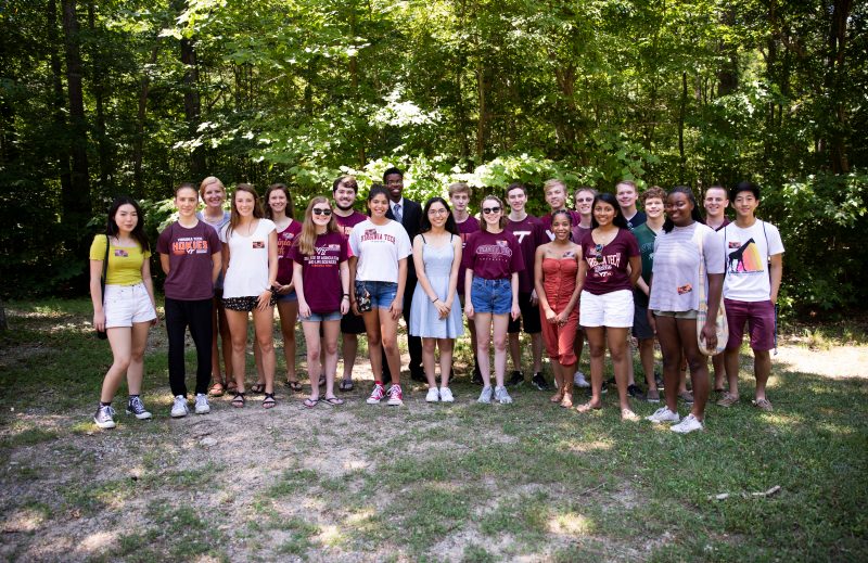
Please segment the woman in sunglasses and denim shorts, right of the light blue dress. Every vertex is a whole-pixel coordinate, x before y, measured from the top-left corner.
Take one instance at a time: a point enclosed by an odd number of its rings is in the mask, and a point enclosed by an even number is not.
[[[503,386],[507,371],[507,325],[509,317],[518,319],[519,272],[524,268],[521,246],[515,235],[506,231],[503,203],[495,195],[482,201],[481,230],[468,238],[462,263],[464,279],[464,315],[476,325],[476,359],[480,361],[483,388],[478,402],[492,402],[492,373],[488,345],[494,328],[495,399],[512,402]]]

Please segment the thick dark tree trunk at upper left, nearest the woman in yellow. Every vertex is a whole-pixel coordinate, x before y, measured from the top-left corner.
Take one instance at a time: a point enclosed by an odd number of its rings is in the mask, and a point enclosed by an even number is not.
[[[63,223],[68,243],[77,256],[87,249],[82,236],[90,218],[90,177],[88,176],[88,131],[81,85],[81,49],[75,0],[63,0],[63,36],[66,43],[66,88],[69,94],[69,139],[73,161],[69,190],[63,192]]]

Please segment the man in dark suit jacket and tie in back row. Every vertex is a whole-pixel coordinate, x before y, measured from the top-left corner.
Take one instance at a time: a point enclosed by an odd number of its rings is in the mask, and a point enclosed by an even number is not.
[[[383,172],[383,183],[388,190],[391,201],[386,217],[404,226],[410,242],[419,234],[419,225],[422,221],[422,206],[412,200],[404,197],[404,172],[398,168],[388,168]],[[407,260],[407,285],[404,289],[404,321],[410,325],[410,304],[416,290],[416,267],[412,257]],[[413,381],[427,381],[422,368],[422,340],[419,336],[407,335],[407,348],[410,350],[410,379]],[[391,379],[386,362],[383,362],[383,378]]]

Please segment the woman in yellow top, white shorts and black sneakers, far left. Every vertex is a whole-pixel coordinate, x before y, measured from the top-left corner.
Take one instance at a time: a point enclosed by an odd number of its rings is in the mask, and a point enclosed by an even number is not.
[[[102,382],[100,406],[93,422],[100,428],[114,428],[112,408],[124,374],[129,399],[127,414],[150,419],[140,397],[144,374],[144,346],[148,330],[155,325],[154,285],[151,280],[151,247],[144,234],[144,216],[133,200],[117,197],[108,208],[105,234],[98,234],[90,245],[90,298],[93,302],[93,328],[105,331],[112,346],[112,367]],[[107,249],[106,249],[107,248]],[[105,294],[100,279],[103,263]]]

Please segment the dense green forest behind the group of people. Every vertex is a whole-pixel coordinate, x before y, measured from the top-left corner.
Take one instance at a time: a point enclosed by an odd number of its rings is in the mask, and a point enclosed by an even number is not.
[[[116,195],[340,174],[612,191],[752,180],[781,303],[868,293],[868,3],[852,0],[0,0],[0,296],[84,294]]]

